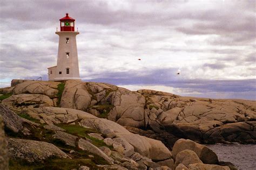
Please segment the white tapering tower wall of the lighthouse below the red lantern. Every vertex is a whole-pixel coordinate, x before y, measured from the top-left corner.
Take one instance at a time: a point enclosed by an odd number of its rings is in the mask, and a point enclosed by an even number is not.
[[[59,31],[56,34],[59,35],[59,49],[54,80],[80,79],[76,41],[79,32]],[[69,38],[68,44],[66,44],[66,38]],[[69,58],[66,57],[66,52],[69,52]],[[69,74],[66,74],[66,68],[69,68]]]

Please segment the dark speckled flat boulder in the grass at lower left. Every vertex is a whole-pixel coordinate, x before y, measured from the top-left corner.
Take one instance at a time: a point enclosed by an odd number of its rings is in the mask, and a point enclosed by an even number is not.
[[[44,141],[6,138],[10,158],[25,162],[41,162],[45,159],[70,158],[53,144]]]

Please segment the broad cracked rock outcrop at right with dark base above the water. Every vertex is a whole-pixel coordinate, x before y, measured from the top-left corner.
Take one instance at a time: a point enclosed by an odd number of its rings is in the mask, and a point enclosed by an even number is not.
[[[155,115],[156,122],[165,125],[168,132],[180,138],[200,143],[255,143],[255,101],[188,98],[157,94],[156,91],[152,93],[152,90],[138,92],[150,103],[149,113]],[[250,121],[251,126],[245,127],[246,121]],[[150,127],[152,125],[149,124]],[[228,131],[235,131],[237,135]]]

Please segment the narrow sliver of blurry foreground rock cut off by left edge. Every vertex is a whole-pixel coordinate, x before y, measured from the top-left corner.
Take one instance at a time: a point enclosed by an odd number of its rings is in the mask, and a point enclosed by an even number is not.
[[[3,118],[0,115],[0,169],[8,170],[9,157],[8,148],[5,143]]]

